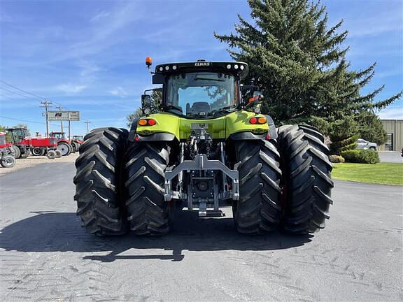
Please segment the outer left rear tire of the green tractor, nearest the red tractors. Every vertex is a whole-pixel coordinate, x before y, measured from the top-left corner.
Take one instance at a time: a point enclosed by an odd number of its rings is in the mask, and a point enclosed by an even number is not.
[[[85,136],[76,160],[77,215],[89,233],[98,236],[126,233],[121,205],[122,157],[127,130],[94,129]]]

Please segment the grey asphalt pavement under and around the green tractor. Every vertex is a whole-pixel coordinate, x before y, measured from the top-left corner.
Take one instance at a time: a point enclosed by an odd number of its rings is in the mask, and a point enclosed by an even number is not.
[[[0,177],[0,301],[402,301],[402,187],[335,181],[314,236],[178,213],[162,237],[85,233],[72,163]]]

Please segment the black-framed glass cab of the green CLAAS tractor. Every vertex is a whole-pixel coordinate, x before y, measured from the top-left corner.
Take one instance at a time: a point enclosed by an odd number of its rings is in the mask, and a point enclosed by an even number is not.
[[[243,62],[206,62],[200,59],[157,65],[153,84],[162,84],[162,101],[160,106],[156,106],[150,96],[143,94],[144,113],[163,110],[197,120],[227,115],[248,105],[242,100],[241,89],[252,89],[253,86],[240,84],[247,74],[248,64]],[[260,92],[254,94],[260,95]]]

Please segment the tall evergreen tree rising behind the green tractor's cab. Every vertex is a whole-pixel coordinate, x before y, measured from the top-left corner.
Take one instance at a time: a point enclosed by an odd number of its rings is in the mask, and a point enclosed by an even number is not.
[[[383,86],[361,94],[374,76],[375,64],[351,71],[346,62],[348,34],[343,21],[327,26],[325,7],[309,0],[248,0],[253,22],[239,15],[236,34],[214,34],[229,45],[236,61],[249,64],[246,81],[264,94],[262,112],[275,122],[330,122],[363,111],[381,110],[402,92],[375,101]]]

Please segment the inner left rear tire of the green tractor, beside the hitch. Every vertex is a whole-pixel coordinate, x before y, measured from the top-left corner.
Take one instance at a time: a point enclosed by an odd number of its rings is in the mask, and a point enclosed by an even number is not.
[[[170,208],[164,201],[164,171],[169,164],[166,143],[132,143],[125,158],[127,220],[137,235],[169,231]]]

